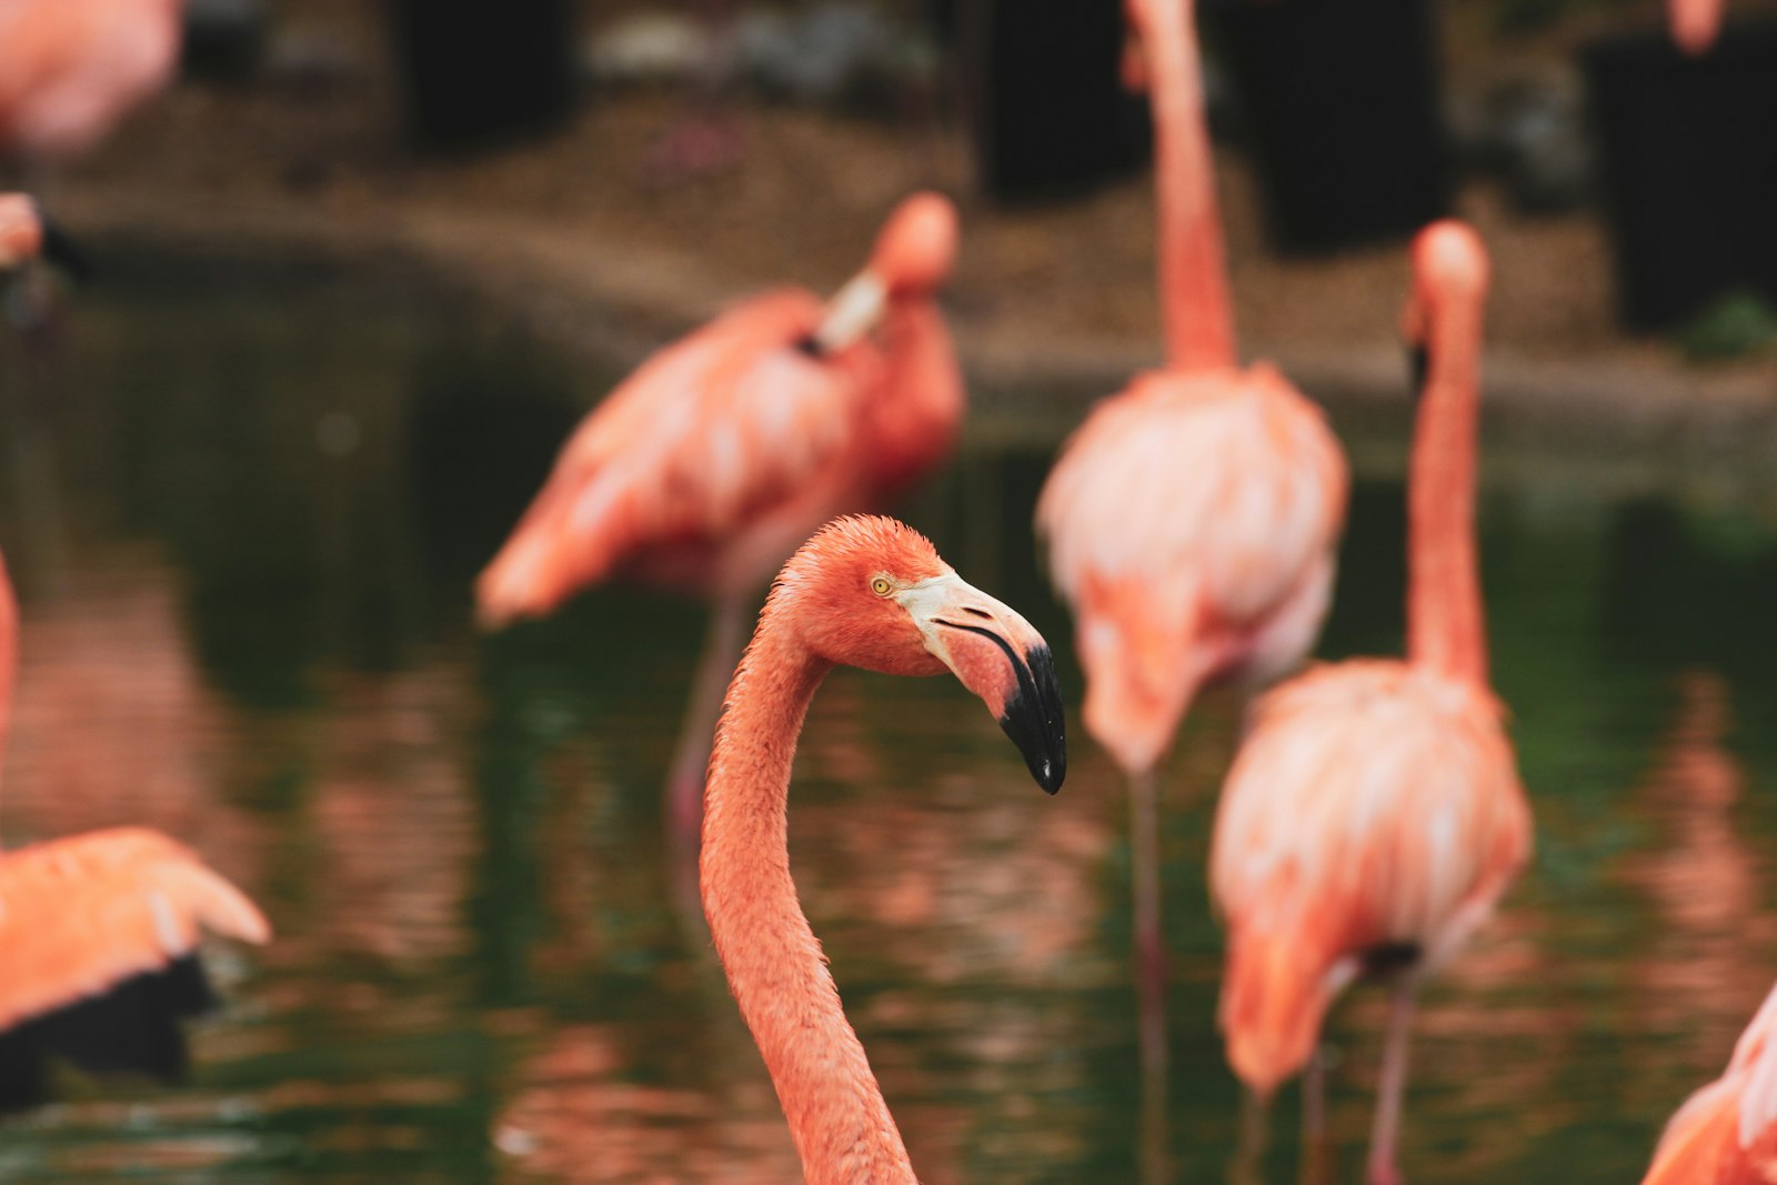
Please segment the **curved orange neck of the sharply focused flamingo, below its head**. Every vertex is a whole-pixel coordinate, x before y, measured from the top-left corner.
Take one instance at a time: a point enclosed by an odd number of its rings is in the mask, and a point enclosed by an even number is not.
[[[915,1185],[789,874],[796,734],[832,664],[794,640],[784,615],[773,593],[716,728],[704,791],[704,915],[807,1185]]]

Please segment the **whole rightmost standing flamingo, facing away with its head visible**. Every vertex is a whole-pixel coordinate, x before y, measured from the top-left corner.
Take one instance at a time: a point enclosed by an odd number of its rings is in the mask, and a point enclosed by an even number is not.
[[[1308,1064],[1345,984],[1393,981],[1372,1185],[1400,1180],[1414,988],[1530,855],[1530,807],[1487,686],[1475,556],[1487,256],[1470,227],[1436,222],[1414,240],[1413,265],[1406,329],[1429,373],[1409,474],[1407,659],[1319,666],[1260,700],[1210,840],[1228,927],[1221,1027],[1258,1100]],[[1315,1073],[1311,1126],[1319,1089]]]

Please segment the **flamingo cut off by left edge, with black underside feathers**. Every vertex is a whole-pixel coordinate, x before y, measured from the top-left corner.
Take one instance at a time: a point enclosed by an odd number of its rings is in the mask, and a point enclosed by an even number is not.
[[[18,602],[0,563],[0,739]],[[178,1020],[211,1002],[203,931],[265,942],[259,910],[185,846],[108,828],[0,853],[0,1110],[43,1101],[46,1062],[174,1077]]]

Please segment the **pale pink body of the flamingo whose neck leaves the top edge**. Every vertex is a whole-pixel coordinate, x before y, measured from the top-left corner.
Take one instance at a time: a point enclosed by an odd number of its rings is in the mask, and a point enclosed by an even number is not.
[[[1086,727],[1125,771],[1159,762],[1201,684],[1308,652],[1345,489],[1326,418],[1265,364],[1139,375],[1068,441],[1036,522],[1079,616]]]

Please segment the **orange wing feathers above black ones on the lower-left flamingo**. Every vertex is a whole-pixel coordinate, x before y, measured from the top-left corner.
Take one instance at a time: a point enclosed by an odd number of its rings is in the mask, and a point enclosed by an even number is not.
[[[204,931],[265,942],[259,910],[185,846],[144,828],[0,856],[0,1032],[197,949]]]

